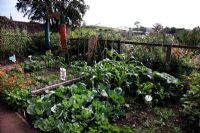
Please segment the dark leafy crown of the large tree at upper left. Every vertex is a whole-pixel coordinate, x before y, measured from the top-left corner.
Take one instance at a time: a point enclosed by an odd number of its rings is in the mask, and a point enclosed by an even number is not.
[[[32,21],[44,22],[54,12],[63,13],[65,23],[76,27],[81,24],[88,6],[84,0],[17,0],[16,8]],[[57,19],[51,20],[51,25],[58,25]]]

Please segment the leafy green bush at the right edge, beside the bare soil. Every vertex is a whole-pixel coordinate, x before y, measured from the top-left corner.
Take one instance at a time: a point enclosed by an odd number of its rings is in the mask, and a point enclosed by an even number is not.
[[[184,94],[182,113],[189,119],[189,124],[199,128],[200,120],[200,74],[192,73],[189,77],[189,89]],[[194,128],[194,130],[195,130]]]

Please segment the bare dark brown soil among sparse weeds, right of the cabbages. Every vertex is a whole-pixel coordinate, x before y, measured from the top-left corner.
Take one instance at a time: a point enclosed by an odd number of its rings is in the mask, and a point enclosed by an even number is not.
[[[183,133],[188,133],[188,131],[191,131],[190,129],[186,129],[187,123],[185,122],[185,119],[180,116],[179,105],[172,105],[172,106],[168,106],[167,108],[172,109],[174,113],[174,115],[169,118],[167,125],[172,124],[172,123],[173,125],[178,125],[181,128]],[[124,118],[118,119],[116,121],[116,124],[118,126],[127,125],[129,127],[138,129],[138,128],[143,127],[143,124],[149,118],[152,118],[155,120],[158,118],[158,116],[156,115],[156,113],[153,111],[152,108],[148,108],[145,106],[134,106],[134,107],[130,107],[128,109],[128,112],[126,113],[126,116]],[[158,127],[158,129],[159,129],[157,131],[158,133],[170,132],[170,128],[168,126],[165,126],[162,128]]]

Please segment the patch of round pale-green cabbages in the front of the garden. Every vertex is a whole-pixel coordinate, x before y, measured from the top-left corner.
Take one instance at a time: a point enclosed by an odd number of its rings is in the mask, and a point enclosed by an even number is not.
[[[102,84],[88,89],[86,84],[78,83],[32,98],[28,104],[27,113],[32,116],[35,128],[83,132],[94,128],[93,123],[104,124],[108,118],[120,116],[124,98]]]

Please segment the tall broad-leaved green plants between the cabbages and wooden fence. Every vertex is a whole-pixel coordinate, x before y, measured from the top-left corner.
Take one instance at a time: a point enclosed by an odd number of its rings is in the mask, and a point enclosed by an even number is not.
[[[138,66],[137,63],[104,59],[93,68],[86,64],[81,67],[74,66],[81,74],[90,77],[87,84],[91,87],[97,87],[100,83],[113,89],[120,87],[138,101],[144,102],[144,97],[150,95],[153,97],[153,103],[166,103],[182,96],[182,84],[176,78],[167,73],[152,71],[145,66]]]

